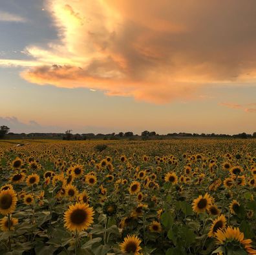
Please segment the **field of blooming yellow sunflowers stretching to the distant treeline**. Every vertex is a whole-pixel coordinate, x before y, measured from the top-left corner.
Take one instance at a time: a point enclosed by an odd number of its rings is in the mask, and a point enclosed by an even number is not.
[[[0,143],[0,254],[256,254],[253,139]]]

